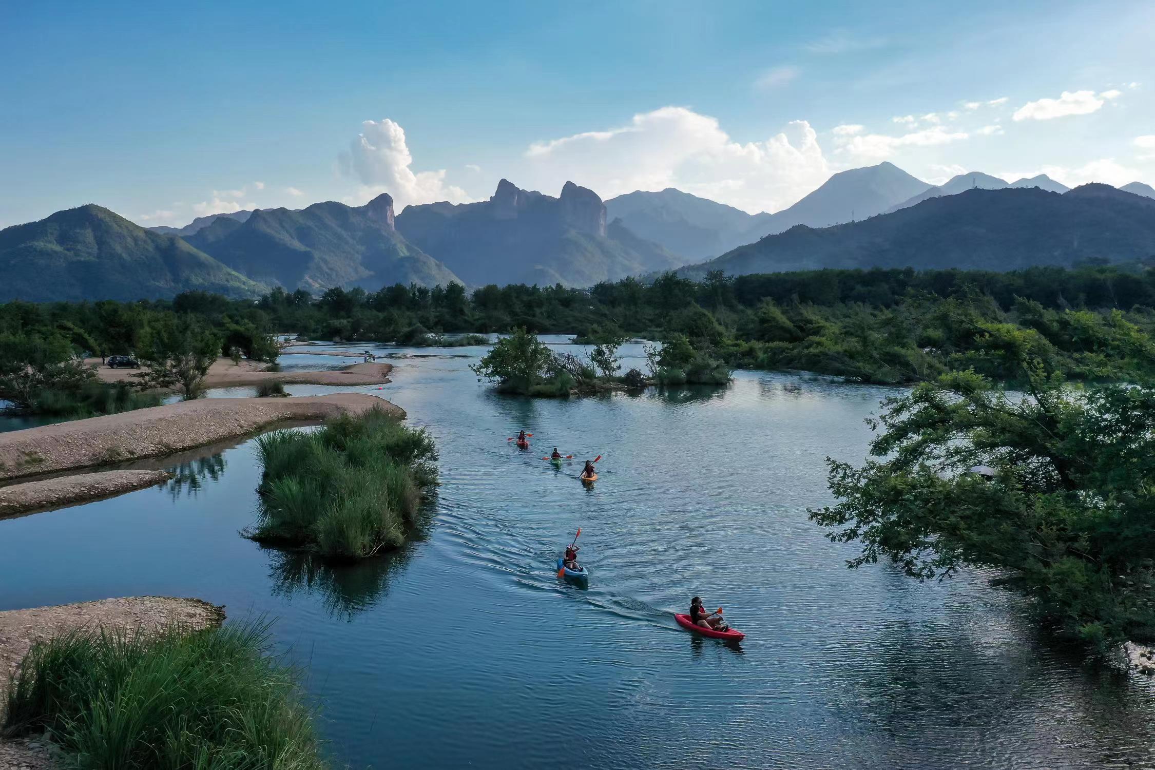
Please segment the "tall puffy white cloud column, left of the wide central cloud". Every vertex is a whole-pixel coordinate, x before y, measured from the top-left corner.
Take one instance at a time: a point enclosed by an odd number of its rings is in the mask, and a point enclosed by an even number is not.
[[[413,156],[405,143],[405,130],[388,118],[362,124],[362,133],[349,142],[349,151],[338,157],[341,170],[360,180],[357,193],[346,202],[364,203],[381,193],[393,196],[397,211],[415,203],[470,200],[460,187],[445,180],[445,170],[413,172]]]

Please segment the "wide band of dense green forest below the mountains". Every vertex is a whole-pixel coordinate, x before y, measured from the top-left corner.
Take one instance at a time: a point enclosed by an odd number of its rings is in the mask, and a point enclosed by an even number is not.
[[[1105,359],[1125,361],[1127,376],[1155,365],[1153,307],[1155,270],[1104,264],[1019,272],[713,272],[701,282],[665,274],[653,283],[627,278],[588,290],[491,285],[468,293],[460,284],[398,284],[377,292],[330,289],[319,298],[277,289],[259,300],[187,292],[139,302],[14,301],[0,306],[0,398],[32,411],[83,402],[91,413],[142,403],[94,386],[76,364],[82,353],[140,356],[154,374],[142,387],[174,387],[187,374],[174,371],[176,362],[189,358],[219,352],[275,360],[275,332],[438,344],[442,332],[514,328],[576,334],[595,344],[658,339],[670,346],[668,358],[680,351],[684,368],[714,372],[701,381],[724,380],[720,366],[885,384],[975,368],[1014,384],[1019,373],[974,356],[992,328],[1009,324],[1037,332],[1065,376],[1111,380],[1119,368],[1104,366]]]

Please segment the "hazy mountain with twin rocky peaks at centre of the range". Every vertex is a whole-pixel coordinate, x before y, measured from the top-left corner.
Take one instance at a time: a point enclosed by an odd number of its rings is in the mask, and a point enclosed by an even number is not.
[[[409,205],[397,230],[472,286],[591,286],[690,261],[618,220],[608,225],[602,199],[572,181],[551,197],[502,179],[487,201]]]

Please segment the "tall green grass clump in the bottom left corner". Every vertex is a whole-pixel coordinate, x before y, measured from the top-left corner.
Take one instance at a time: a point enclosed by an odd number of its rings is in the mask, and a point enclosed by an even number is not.
[[[320,770],[297,672],[268,627],[73,631],[36,643],[13,675],[0,735],[46,732],[76,768]]]

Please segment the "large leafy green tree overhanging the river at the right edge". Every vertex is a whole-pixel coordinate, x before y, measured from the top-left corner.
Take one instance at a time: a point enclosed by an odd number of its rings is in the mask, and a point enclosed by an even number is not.
[[[829,461],[835,506],[811,511],[918,580],[998,570],[1041,620],[1097,655],[1155,642],[1155,383],[1123,319],[1065,316],[1082,350],[988,324],[949,372],[885,402],[862,466]],[[1076,372],[1109,382],[1082,389]],[[996,377],[1021,383],[1008,391]]]

